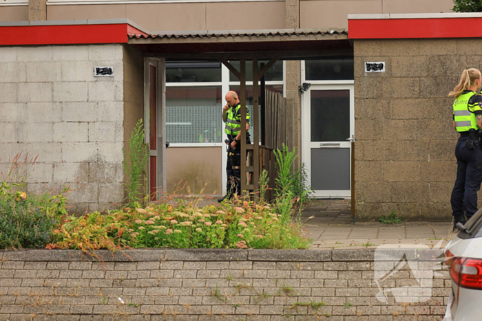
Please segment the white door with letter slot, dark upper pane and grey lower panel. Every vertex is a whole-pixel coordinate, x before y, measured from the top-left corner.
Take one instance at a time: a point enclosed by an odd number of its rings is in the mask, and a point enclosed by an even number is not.
[[[353,85],[311,85],[302,99],[302,162],[315,197],[351,196]]]

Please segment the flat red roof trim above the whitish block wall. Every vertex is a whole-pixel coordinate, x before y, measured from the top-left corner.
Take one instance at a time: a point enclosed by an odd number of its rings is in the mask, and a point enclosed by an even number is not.
[[[127,23],[115,25],[28,25],[0,27],[0,45],[127,43]]]

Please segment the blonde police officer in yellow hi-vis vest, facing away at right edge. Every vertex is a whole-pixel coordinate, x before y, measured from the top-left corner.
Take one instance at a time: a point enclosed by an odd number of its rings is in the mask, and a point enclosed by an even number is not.
[[[457,85],[448,96],[454,96],[454,128],[460,133],[455,147],[457,179],[450,203],[457,223],[465,223],[477,211],[477,191],[482,182],[482,96],[476,93],[482,85],[478,69],[465,69]]]

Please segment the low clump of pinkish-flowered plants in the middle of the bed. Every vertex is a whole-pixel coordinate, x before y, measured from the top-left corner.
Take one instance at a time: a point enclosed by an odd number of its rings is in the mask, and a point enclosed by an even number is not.
[[[69,217],[54,230],[61,248],[93,252],[132,247],[304,249],[300,225],[276,208],[237,199],[222,207],[167,203]]]

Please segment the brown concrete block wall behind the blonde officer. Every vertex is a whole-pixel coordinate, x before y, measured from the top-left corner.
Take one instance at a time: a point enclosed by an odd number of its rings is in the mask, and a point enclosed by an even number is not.
[[[477,39],[354,41],[357,219],[451,219],[459,135],[447,95],[463,69],[481,69],[481,49]],[[367,61],[386,72],[364,73]]]

